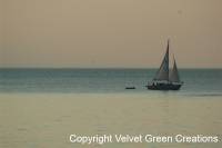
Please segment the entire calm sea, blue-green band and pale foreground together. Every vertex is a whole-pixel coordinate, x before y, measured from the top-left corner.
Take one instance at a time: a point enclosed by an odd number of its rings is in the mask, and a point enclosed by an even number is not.
[[[180,69],[179,91],[148,90],[157,69],[0,69],[0,148],[221,148],[222,69]],[[134,90],[125,87],[134,86]],[[213,144],[72,144],[69,136],[216,136]]]

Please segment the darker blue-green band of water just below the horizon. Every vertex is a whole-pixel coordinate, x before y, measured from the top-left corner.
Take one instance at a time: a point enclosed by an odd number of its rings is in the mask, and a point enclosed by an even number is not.
[[[154,69],[0,69],[0,92],[148,92]],[[221,96],[222,69],[182,69],[181,95]],[[135,86],[135,90],[125,90]]]

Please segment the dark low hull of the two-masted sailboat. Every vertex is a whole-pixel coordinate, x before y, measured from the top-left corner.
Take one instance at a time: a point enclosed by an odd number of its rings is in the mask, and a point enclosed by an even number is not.
[[[147,88],[151,90],[179,90],[182,83],[152,83],[148,85]]]

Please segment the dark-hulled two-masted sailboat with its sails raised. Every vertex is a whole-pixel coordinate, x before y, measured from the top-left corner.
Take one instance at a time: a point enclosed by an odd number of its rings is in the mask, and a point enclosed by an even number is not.
[[[168,40],[168,47],[165,56],[162,60],[162,63],[159,70],[155,73],[155,77],[151,82],[148,83],[147,88],[152,90],[179,90],[183,85],[183,81],[180,80],[175,58],[173,56],[173,68],[169,68],[169,48],[170,40]]]

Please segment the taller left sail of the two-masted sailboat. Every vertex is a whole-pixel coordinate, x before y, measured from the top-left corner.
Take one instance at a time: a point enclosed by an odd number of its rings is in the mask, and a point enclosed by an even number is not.
[[[154,80],[169,80],[169,41],[168,41],[168,48],[165,56],[163,58],[163,61],[160,66],[160,69],[158,70]]]

